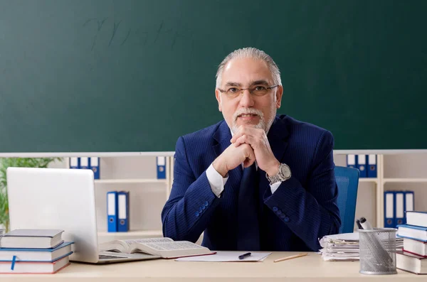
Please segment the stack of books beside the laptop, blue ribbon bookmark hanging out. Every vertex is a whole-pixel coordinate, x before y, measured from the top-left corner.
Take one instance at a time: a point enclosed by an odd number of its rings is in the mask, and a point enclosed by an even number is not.
[[[0,237],[0,273],[56,273],[70,265],[63,230],[15,229]]]

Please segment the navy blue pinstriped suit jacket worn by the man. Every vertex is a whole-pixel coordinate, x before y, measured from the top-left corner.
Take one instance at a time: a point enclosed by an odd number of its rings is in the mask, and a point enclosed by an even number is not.
[[[206,169],[228,146],[225,121],[179,137],[174,183],[162,211],[163,234],[196,242],[211,250],[235,250],[237,200],[242,168],[230,170],[221,197],[211,190]],[[338,233],[341,225],[334,178],[332,134],[312,124],[276,116],[268,132],[275,157],[292,177],[271,194],[265,172],[258,168],[260,247],[265,251],[318,251],[318,238]]]

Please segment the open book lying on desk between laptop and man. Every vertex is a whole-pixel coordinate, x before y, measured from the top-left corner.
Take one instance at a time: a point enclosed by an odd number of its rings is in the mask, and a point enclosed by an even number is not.
[[[142,252],[161,256],[164,259],[215,254],[214,251],[205,246],[199,246],[188,241],[174,241],[170,238],[115,240],[100,244],[100,251],[114,251],[126,254]]]

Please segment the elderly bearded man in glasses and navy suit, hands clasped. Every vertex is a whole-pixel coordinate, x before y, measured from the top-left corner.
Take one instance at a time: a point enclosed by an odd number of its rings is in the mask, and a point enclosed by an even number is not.
[[[163,234],[212,250],[317,251],[341,224],[332,134],[276,116],[280,70],[255,48],[218,67],[225,121],[179,137]]]

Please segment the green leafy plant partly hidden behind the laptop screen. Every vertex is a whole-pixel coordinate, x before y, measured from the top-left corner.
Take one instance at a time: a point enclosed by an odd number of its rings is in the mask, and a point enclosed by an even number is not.
[[[47,168],[53,161],[62,158],[0,158],[0,225],[9,232],[9,202],[7,198],[6,170],[9,167]]]

